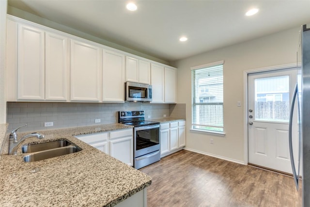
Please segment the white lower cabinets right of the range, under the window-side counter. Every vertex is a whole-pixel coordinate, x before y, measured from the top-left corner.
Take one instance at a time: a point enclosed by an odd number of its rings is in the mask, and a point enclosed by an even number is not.
[[[160,156],[183,149],[186,143],[185,121],[160,124]]]

